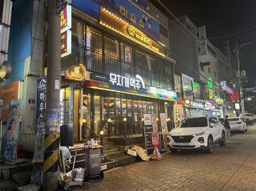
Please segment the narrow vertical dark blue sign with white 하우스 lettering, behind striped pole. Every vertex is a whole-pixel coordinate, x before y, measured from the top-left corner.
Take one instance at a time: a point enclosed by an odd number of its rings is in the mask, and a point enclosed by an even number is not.
[[[46,76],[37,79],[36,122],[38,121],[38,119],[44,118],[44,111],[46,105],[46,82]]]

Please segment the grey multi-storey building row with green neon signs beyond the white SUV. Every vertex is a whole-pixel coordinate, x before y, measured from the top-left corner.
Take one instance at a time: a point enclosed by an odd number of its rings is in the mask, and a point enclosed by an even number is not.
[[[205,26],[195,26],[187,16],[169,23],[170,49],[177,60],[174,83],[182,95],[184,115],[237,116],[235,63],[228,59],[232,54],[221,53],[207,40]]]

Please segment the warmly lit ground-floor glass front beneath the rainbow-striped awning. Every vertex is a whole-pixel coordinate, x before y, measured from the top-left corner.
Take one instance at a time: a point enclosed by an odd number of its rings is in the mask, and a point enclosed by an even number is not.
[[[71,125],[74,142],[104,136],[143,135],[144,113],[165,113],[171,118],[171,101],[116,93],[70,83],[61,89],[61,125]],[[160,123],[160,121],[159,121]],[[160,125],[159,125],[160,126]]]

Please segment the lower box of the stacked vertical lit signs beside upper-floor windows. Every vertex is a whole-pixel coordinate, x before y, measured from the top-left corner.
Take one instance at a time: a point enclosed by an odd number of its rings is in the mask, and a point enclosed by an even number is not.
[[[61,34],[60,54],[62,57],[71,54],[71,31],[65,31]]]

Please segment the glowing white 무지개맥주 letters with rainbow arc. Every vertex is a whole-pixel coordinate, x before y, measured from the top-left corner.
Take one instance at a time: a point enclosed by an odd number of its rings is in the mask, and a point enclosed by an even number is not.
[[[138,74],[136,75],[136,78],[133,78],[110,73],[110,82],[116,86],[123,86],[133,89],[145,89],[145,83],[142,77]]]

